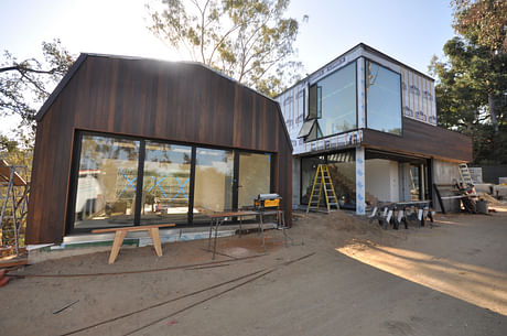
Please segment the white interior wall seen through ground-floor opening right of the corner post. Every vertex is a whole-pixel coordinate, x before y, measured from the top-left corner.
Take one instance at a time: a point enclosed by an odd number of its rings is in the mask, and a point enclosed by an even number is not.
[[[379,202],[399,200],[398,162],[371,159],[365,161],[365,185]]]

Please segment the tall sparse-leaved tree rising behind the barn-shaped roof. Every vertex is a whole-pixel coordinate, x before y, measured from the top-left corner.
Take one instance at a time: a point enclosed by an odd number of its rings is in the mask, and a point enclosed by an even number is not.
[[[274,96],[295,80],[299,22],[290,0],[161,0],[147,4],[149,30],[180,54]],[[306,17],[304,18],[304,20]]]

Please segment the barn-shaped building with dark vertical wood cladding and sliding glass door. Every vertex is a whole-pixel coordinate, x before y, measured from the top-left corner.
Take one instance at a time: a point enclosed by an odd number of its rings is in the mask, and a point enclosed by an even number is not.
[[[82,54],[36,115],[28,243],[94,228],[208,226],[278,193],[292,147],[277,101],[197,63]]]

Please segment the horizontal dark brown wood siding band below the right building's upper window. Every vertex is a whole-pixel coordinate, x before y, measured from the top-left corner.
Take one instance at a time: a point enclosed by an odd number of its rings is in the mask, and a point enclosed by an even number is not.
[[[472,138],[404,117],[402,137],[365,129],[363,144],[366,148],[425,158],[466,162],[473,160]]]

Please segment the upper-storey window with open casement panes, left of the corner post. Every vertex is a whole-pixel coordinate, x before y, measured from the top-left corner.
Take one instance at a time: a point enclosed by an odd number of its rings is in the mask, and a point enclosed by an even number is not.
[[[312,85],[308,119],[317,123],[306,140],[356,129],[356,62]]]

